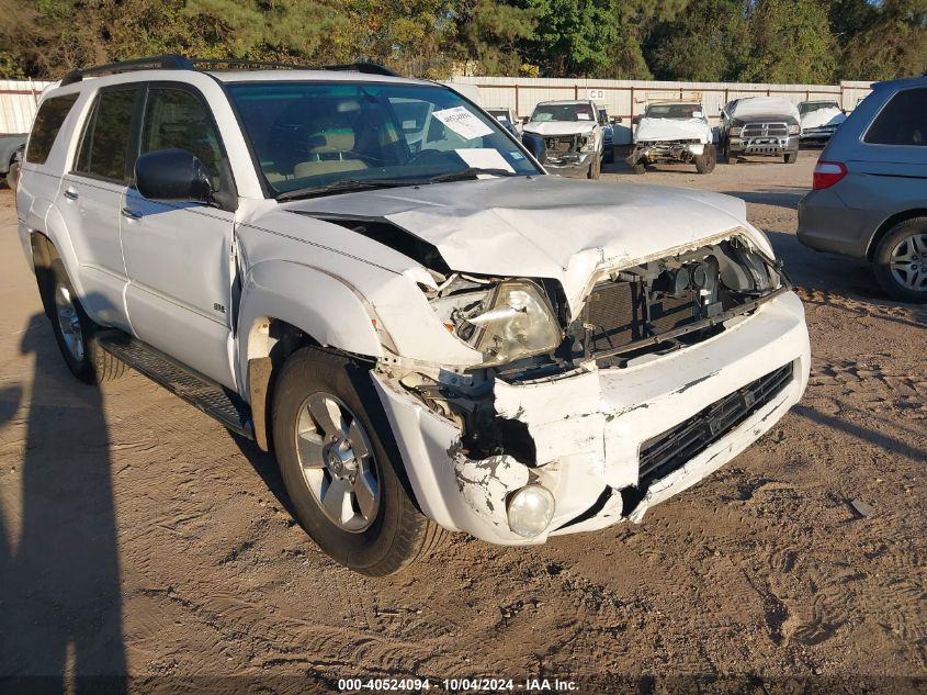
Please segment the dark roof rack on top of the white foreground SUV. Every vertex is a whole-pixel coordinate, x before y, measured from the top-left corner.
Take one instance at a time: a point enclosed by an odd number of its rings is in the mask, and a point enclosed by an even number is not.
[[[206,70],[210,68],[219,69],[217,66],[227,66],[225,69],[335,70],[339,72],[363,72],[365,75],[399,77],[398,72],[395,72],[385,66],[364,60],[358,63],[344,63],[341,65],[312,66],[290,63],[272,63],[268,60],[248,60],[244,58],[186,58],[181,55],[168,53],[159,56],[148,56],[145,58],[136,58],[134,60],[120,60],[117,63],[106,63],[105,65],[97,65],[89,68],[71,70],[61,79],[61,87],[74,85],[75,82],[81,81],[84,77],[92,77],[94,75],[117,75],[120,72],[132,72],[135,70],[203,71],[199,66],[202,66],[202,68]]]

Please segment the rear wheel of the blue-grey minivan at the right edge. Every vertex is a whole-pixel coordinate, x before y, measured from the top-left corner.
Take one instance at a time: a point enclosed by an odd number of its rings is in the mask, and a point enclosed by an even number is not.
[[[927,217],[905,220],[889,229],[875,247],[872,265],[885,293],[902,302],[927,303]]]

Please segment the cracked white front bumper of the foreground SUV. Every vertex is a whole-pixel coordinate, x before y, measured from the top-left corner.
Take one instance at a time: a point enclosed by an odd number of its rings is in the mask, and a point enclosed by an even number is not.
[[[680,467],[648,482],[631,509],[619,491],[635,489],[641,447],[709,404],[783,367],[793,375],[777,395]],[[810,350],[801,301],[787,292],[722,334],[683,350],[619,369],[595,365],[530,383],[497,380],[495,407],[528,426],[536,467],[508,455],[473,460],[460,429],[400,386],[374,381],[421,511],[441,526],[502,545],[640,522],[647,508],[690,487],[753,444],[800,399]],[[556,500],[549,529],[524,539],[508,527],[510,493],[529,482]]]

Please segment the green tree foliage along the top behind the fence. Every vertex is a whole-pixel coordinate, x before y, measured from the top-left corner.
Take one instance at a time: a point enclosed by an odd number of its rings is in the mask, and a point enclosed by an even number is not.
[[[0,77],[158,53],[431,78],[829,82],[927,70],[925,0],[0,0]]]

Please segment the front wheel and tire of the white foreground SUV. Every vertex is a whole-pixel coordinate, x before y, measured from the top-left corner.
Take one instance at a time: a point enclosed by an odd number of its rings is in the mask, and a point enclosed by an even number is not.
[[[332,407],[340,414],[338,426],[334,416],[325,417]],[[449,536],[412,502],[369,367],[313,347],[296,350],[276,379],[272,419],[274,451],[295,516],[340,564],[370,576],[393,574]],[[340,493],[334,498],[340,503],[326,511],[324,501],[332,492]]]

